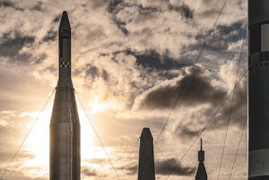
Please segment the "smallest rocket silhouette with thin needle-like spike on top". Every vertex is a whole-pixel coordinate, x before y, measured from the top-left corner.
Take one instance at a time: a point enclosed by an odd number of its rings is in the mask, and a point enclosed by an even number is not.
[[[202,139],[201,139],[201,150],[198,151],[198,161],[199,165],[196,171],[195,180],[207,180],[207,174],[204,167],[204,150]]]

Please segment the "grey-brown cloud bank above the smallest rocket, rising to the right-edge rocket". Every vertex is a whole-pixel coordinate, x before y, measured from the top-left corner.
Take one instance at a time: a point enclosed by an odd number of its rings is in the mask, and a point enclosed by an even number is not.
[[[229,99],[227,98],[228,97],[223,97],[222,100],[226,99],[226,102],[222,104],[222,106],[221,103],[219,103],[216,104],[216,106],[202,107],[199,111],[197,109],[188,109],[187,115],[180,116],[178,123],[173,124],[172,133],[181,140],[188,141],[196,137],[210,120],[213,121],[207,126],[207,130],[209,131],[221,130],[228,125],[229,121],[230,126],[236,126],[239,129],[244,128],[243,124],[247,121],[246,78],[239,82],[237,88],[230,93]],[[220,111],[215,115],[216,110],[219,109],[220,106]],[[197,113],[197,111],[199,113]]]

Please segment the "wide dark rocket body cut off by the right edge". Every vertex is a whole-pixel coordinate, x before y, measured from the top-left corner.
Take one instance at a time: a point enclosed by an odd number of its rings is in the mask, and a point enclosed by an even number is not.
[[[248,179],[269,179],[269,1],[248,0]]]

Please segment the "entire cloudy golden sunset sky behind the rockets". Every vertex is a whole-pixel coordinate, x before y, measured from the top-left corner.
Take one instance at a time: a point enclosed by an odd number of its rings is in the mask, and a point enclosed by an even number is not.
[[[0,0],[0,176],[48,179],[57,30],[67,11],[82,179],[135,180],[143,127],[156,141],[157,180],[194,179],[201,136],[209,179],[246,179],[247,1],[227,0],[218,18],[223,4]]]

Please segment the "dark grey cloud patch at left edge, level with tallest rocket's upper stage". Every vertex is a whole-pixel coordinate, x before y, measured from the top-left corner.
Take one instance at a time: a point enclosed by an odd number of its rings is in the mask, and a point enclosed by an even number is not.
[[[14,38],[5,34],[0,44],[0,56],[8,57],[11,61],[18,63],[29,63],[30,53],[21,53],[22,47],[31,46],[35,41],[33,36],[22,36],[19,33],[15,33]]]

